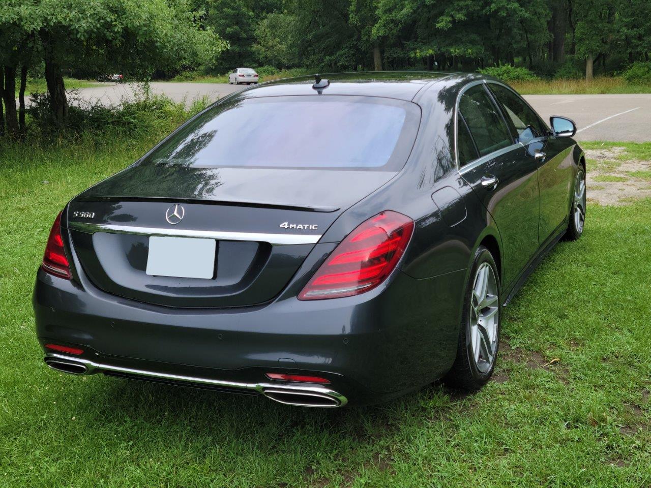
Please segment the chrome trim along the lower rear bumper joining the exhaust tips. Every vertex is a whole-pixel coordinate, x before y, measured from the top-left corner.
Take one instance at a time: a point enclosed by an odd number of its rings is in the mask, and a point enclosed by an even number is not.
[[[121,366],[102,364],[100,362],[94,362],[88,359],[70,357],[70,356],[65,356],[57,353],[46,354],[45,357],[46,361],[48,359],[53,359],[53,358],[65,360],[68,363],[76,362],[76,363],[85,364],[85,366],[88,368],[88,372],[86,373],[87,375],[98,373],[101,371],[113,371],[117,373],[128,373],[128,374],[143,376],[143,377],[170,379],[173,381],[181,381],[186,383],[200,383],[202,385],[225,386],[227,388],[240,388],[242,390],[254,390],[262,395],[264,395],[266,390],[276,390],[276,391],[282,390],[282,392],[286,392],[286,393],[296,393],[296,394],[304,393],[309,396],[327,396],[328,398],[331,398],[333,401],[337,403],[336,405],[324,405],[324,408],[343,407],[344,405],[346,405],[346,403],[348,403],[348,399],[342,394],[336,392],[335,390],[331,390],[330,388],[326,388],[324,386],[314,386],[312,384],[307,384],[307,383],[305,384],[305,386],[298,385],[296,383],[293,384],[280,383],[278,385],[275,385],[273,383],[242,383],[239,381],[225,381],[222,379],[200,378],[200,377],[193,377],[193,376],[174,375],[171,373],[159,373],[154,371],[134,370],[132,368],[122,368]],[[274,399],[271,398],[271,400]],[[274,401],[279,401],[279,400],[274,400]],[[284,403],[284,402],[279,401],[279,403]],[[313,407],[314,405],[305,405],[305,406]]]

